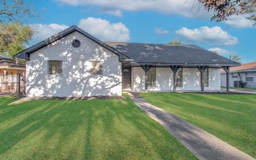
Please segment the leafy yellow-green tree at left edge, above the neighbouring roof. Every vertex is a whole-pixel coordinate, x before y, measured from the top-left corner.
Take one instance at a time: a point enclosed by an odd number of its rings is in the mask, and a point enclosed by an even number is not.
[[[26,48],[32,35],[33,30],[20,22],[0,23],[0,54],[12,58]]]

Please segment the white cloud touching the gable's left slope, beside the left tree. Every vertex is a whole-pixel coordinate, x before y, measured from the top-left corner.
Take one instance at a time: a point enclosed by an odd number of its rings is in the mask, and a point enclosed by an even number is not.
[[[32,36],[31,44],[38,43],[43,41],[44,39],[51,37],[60,31],[68,28],[66,25],[58,25],[55,23],[51,23],[50,25],[43,24],[31,24],[29,25],[34,30],[34,35]]]

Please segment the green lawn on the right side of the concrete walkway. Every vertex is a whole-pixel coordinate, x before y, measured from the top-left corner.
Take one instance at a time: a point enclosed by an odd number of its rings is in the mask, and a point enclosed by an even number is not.
[[[256,158],[256,95],[142,93],[153,105]]]

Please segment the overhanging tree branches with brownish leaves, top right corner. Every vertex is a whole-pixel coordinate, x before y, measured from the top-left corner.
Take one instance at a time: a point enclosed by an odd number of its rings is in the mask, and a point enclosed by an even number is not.
[[[202,6],[207,12],[214,11],[211,20],[227,20],[231,15],[246,14],[248,19],[256,22],[256,0],[198,0],[194,7]]]

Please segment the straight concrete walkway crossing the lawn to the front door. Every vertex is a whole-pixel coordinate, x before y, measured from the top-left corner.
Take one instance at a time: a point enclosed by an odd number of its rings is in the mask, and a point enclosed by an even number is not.
[[[129,92],[129,95],[138,107],[165,127],[198,159],[254,159],[199,127],[151,105],[139,93]]]

